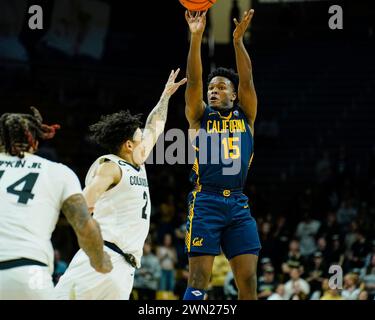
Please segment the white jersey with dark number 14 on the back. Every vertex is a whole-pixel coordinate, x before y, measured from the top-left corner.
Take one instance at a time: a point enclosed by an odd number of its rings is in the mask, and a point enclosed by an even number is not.
[[[28,258],[53,271],[51,235],[66,199],[82,194],[67,166],[0,153],[0,261]]]

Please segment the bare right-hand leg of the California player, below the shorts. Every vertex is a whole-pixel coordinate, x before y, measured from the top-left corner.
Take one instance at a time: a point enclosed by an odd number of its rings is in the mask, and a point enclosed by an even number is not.
[[[258,256],[243,254],[230,261],[239,300],[257,300],[257,263]]]

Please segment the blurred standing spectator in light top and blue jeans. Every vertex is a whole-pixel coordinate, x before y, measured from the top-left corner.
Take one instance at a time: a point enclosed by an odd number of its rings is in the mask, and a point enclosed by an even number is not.
[[[176,249],[172,245],[172,235],[164,235],[163,245],[157,248],[157,257],[160,261],[161,279],[159,289],[161,291],[173,291],[175,284],[175,264],[177,263]]]

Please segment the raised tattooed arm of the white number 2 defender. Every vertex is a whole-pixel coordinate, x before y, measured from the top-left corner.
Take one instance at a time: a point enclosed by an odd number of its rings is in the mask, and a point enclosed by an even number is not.
[[[168,105],[170,97],[177,91],[177,89],[186,83],[184,78],[180,82],[175,83],[175,80],[180,72],[172,70],[165,89],[160,97],[156,107],[149,114],[145,130],[143,132],[141,143],[135,148],[133,159],[138,165],[143,164],[149,156],[152,148],[155,146],[159,136],[164,131],[165,123],[167,121]]]

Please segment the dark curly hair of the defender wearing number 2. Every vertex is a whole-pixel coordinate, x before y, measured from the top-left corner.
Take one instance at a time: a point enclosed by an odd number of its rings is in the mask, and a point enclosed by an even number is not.
[[[117,154],[121,145],[132,140],[135,131],[142,126],[142,114],[132,115],[130,111],[120,111],[102,116],[91,125],[90,138],[107,151]]]

